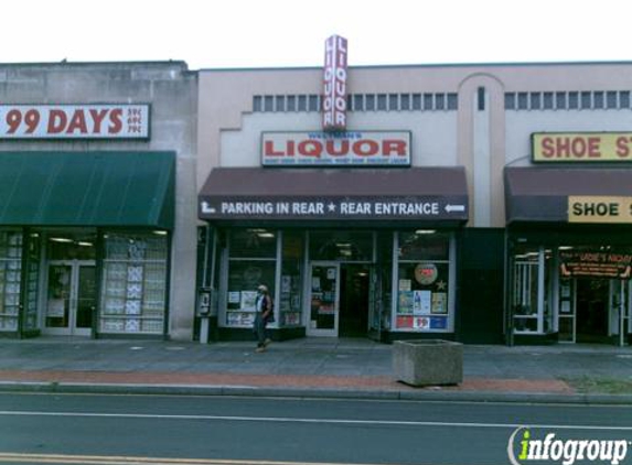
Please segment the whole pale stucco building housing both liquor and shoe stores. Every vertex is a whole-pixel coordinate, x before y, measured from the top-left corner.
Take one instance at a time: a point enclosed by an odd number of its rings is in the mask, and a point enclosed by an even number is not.
[[[629,342],[632,64],[326,68],[200,71],[201,337]]]

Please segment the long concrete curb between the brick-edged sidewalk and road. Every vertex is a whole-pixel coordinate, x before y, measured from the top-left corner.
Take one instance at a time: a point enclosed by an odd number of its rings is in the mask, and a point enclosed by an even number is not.
[[[1,381],[0,392],[93,393],[93,394],[147,394],[147,396],[231,396],[271,398],[317,398],[358,400],[401,400],[426,402],[490,402],[490,403],[558,403],[632,405],[632,394],[600,393],[545,393],[545,392],[439,392],[399,391],[340,388],[293,388],[256,386],[202,386],[202,385],[136,385],[136,383],[82,383],[82,382],[21,382]]]

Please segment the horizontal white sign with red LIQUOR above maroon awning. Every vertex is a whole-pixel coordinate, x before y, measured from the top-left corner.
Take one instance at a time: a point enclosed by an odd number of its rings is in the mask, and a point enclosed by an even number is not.
[[[410,131],[263,132],[264,166],[410,166]]]

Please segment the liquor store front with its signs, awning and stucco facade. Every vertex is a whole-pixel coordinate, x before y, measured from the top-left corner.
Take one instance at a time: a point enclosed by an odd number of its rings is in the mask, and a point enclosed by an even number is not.
[[[457,264],[480,237],[464,234],[458,89],[424,93],[387,68],[347,76],[333,86],[347,86],[341,116],[322,111],[338,108],[322,68],[200,72],[200,284],[218,338],[251,338],[261,282],[278,338],[458,338],[468,324]]]

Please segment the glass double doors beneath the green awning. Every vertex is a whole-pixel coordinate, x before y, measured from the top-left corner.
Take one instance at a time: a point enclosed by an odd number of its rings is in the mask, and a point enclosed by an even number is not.
[[[94,261],[55,260],[47,266],[44,331],[89,336],[96,307]]]

